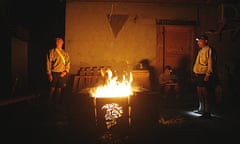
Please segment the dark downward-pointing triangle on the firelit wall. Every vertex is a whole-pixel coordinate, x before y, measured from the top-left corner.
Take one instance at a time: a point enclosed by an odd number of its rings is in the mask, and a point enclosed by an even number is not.
[[[115,37],[117,37],[118,33],[121,31],[123,25],[128,19],[128,15],[120,15],[120,14],[113,14],[113,15],[107,15],[107,19],[110,23],[110,26],[112,28],[112,32]]]

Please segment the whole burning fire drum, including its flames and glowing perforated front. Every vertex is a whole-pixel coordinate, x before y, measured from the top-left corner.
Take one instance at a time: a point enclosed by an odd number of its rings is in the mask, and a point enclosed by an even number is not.
[[[103,84],[90,89],[96,126],[104,130],[114,129],[117,125],[130,126],[130,97],[133,95],[131,73],[128,78],[124,75],[119,79],[108,69],[102,72],[102,76],[105,77]]]

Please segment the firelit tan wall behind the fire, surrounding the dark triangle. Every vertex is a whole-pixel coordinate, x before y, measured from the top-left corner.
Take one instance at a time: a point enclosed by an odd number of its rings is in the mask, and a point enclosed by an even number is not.
[[[108,14],[128,15],[115,36]],[[157,3],[67,1],[65,49],[71,57],[71,73],[82,66],[133,68],[140,60],[156,62],[156,19],[199,21],[196,32],[217,29],[216,6]]]

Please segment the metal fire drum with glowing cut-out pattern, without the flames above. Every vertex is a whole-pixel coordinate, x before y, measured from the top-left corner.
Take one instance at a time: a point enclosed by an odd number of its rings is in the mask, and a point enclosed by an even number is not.
[[[101,131],[122,131],[131,125],[130,97],[93,98],[95,123]]]

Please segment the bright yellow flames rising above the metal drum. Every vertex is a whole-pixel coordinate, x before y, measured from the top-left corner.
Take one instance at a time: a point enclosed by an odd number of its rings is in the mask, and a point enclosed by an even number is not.
[[[101,71],[102,72],[102,71]],[[110,69],[106,70],[107,78],[105,84],[91,88],[90,93],[93,97],[127,97],[133,94],[132,90],[132,73],[130,72],[129,79],[123,75],[122,79],[113,76]],[[105,74],[102,72],[102,76]]]

